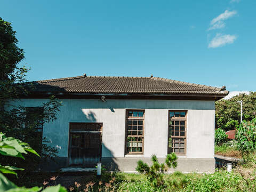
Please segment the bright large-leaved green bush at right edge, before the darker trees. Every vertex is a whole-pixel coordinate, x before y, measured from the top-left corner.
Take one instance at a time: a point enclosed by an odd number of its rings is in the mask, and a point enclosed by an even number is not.
[[[243,153],[249,153],[256,149],[256,118],[250,122],[243,121],[237,128],[237,147]]]

